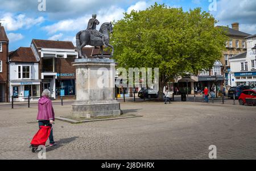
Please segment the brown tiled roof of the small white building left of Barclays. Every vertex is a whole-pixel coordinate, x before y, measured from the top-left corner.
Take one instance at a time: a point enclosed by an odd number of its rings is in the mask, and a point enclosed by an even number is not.
[[[20,47],[16,49],[16,51],[9,53],[9,59],[11,62],[38,62],[30,47]]]

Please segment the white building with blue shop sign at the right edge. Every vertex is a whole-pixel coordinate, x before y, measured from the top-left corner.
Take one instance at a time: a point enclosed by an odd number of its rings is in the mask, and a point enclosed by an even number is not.
[[[247,52],[230,59],[232,86],[256,86],[256,55],[252,48],[256,45],[256,35],[246,37]]]

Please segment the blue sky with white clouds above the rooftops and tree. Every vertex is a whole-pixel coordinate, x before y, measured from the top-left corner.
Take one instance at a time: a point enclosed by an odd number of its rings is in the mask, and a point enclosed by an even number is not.
[[[240,23],[240,30],[256,34],[256,1],[249,0],[40,0],[46,1],[46,11],[39,11],[38,0],[1,0],[0,19],[10,39],[10,51],[30,46],[32,39],[68,40],[84,30],[92,14],[101,23],[118,20],[123,12],[144,10],[155,2],[184,10],[201,7],[227,26]],[[216,2],[216,6],[214,5]],[[231,26],[230,26],[231,27]]]

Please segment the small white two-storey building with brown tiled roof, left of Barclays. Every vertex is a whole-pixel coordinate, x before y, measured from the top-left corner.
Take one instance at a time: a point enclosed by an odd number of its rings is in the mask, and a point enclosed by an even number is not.
[[[20,47],[9,55],[10,102],[38,101],[40,98],[39,62],[31,48]]]

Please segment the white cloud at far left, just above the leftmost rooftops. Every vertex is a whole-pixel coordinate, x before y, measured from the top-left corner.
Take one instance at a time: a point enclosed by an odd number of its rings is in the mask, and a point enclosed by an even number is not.
[[[29,18],[24,14],[14,15],[11,13],[5,13],[0,15],[0,18],[4,20],[3,26],[5,26],[7,31],[16,31],[20,28],[28,29],[44,22],[44,18],[42,16],[39,18]]]

